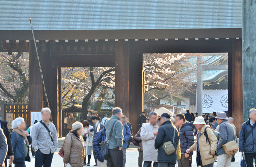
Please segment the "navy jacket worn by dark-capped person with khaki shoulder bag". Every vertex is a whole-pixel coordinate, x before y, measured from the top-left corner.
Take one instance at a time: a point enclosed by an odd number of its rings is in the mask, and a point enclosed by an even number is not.
[[[168,163],[174,163],[176,164],[177,160],[177,153],[174,151],[174,153],[167,155],[165,150],[162,148],[162,145],[167,141],[173,141],[173,132],[174,132],[174,125],[171,121],[167,120],[165,121],[158,129],[156,139],[155,139],[155,149],[158,149],[157,154],[157,161],[158,162],[168,162]],[[175,129],[175,138],[173,146],[175,150],[177,150],[177,145],[179,142],[179,133]]]

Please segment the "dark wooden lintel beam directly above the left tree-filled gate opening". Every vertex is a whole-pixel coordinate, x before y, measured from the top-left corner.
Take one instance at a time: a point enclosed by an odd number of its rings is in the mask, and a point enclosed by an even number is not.
[[[115,54],[52,55],[58,67],[114,67]]]

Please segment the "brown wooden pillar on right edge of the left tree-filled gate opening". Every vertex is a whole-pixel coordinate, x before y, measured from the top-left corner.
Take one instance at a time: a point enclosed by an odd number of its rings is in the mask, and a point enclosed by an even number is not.
[[[129,118],[129,48],[128,41],[119,40],[115,44],[115,106],[122,108]]]

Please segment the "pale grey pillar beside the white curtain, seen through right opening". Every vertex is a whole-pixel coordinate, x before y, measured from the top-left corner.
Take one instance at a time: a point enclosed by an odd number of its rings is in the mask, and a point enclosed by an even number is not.
[[[196,93],[196,112],[201,116],[203,114],[203,70],[202,70],[203,57],[199,55],[197,57],[197,93]]]

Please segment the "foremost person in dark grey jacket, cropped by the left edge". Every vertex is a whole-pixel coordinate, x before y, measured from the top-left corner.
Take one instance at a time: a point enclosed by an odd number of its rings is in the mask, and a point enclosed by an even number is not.
[[[0,128],[0,166],[5,167],[4,160],[8,151],[7,139],[3,133],[3,130]]]

